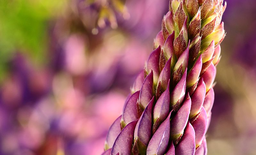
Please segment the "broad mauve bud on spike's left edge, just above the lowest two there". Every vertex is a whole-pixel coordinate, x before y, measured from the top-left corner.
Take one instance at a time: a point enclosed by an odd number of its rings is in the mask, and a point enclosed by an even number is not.
[[[138,113],[136,108],[137,100],[139,99],[140,91],[132,94],[124,105],[121,126],[124,128],[126,124],[138,119]]]

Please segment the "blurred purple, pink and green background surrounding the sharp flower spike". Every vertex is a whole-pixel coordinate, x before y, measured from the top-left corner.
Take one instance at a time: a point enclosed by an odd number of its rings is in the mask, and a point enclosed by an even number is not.
[[[256,154],[255,0],[226,0],[209,155]],[[1,0],[0,154],[100,155],[169,0]]]

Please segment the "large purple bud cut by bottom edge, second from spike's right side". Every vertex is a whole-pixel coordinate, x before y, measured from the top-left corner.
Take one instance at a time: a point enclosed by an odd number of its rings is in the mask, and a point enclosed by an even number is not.
[[[175,148],[175,155],[194,155],[195,151],[195,130],[188,122],[180,143]]]

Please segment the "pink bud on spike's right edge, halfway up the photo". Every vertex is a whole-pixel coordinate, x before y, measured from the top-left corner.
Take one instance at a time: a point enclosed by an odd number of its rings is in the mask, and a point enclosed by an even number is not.
[[[216,67],[213,65],[213,63],[211,63],[210,66],[202,75],[202,78],[204,78],[204,83],[206,86],[206,92],[208,92],[210,88],[212,88],[212,84],[214,82],[215,76],[216,76]]]

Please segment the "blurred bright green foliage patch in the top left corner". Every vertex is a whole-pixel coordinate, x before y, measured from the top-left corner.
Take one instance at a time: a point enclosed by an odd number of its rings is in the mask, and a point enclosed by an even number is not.
[[[49,22],[61,15],[66,4],[66,0],[0,1],[0,82],[16,52],[38,65],[47,61]]]

